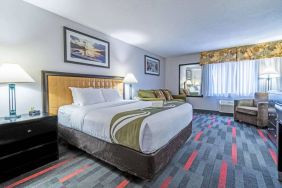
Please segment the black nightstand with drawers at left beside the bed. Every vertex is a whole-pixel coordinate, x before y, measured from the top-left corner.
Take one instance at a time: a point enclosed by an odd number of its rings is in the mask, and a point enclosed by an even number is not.
[[[59,158],[57,116],[0,118],[0,182]]]

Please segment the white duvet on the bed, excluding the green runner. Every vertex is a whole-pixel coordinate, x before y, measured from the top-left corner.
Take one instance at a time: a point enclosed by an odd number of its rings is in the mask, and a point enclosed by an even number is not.
[[[112,118],[124,111],[152,106],[145,101],[105,102],[89,106],[66,105],[59,108],[59,123],[65,127],[111,142]],[[192,106],[185,103],[144,119],[140,129],[141,152],[149,154],[166,145],[192,121]]]

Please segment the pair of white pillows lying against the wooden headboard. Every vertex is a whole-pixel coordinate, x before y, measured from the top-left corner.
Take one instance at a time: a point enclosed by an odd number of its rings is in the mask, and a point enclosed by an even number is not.
[[[70,87],[73,104],[78,106],[92,105],[102,102],[121,101],[122,97],[112,88],[75,88]]]

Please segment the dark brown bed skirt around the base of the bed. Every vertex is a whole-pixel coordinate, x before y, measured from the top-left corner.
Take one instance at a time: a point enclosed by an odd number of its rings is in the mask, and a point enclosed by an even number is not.
[[[89,153],[121,171],[142,179],[152,179],[160,172],[192,134],[192,121],[165,146],[152,154],[144,154],[114,143],[109,143],[83,132],[58,125],[59,136],[66,142]]]

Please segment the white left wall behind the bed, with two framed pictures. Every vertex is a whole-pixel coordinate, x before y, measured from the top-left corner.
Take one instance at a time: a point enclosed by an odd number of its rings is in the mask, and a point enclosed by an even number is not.
[[[63,26],[109,41],[111,68],[64,63]],[[20,114],[26,113],[32,106],[42,108],[41,70],[113,76],[125,76],[132,72],[139,80],[134,85],[135,90],[163,88],[165,85],[164,58],[21,0],[1,1],[0,27],[0,63],[9,61],[20,64],[36,81],[34,84],[17,85],[17,110]],[[160,76],[144,74],[144,55],[161,60]],[[0,84],[0,116],[7,114],[8,88]]]

